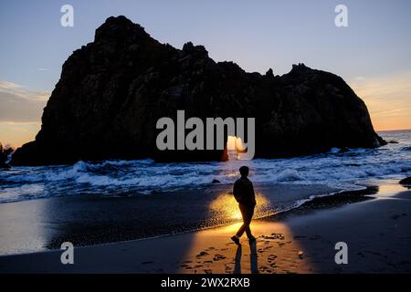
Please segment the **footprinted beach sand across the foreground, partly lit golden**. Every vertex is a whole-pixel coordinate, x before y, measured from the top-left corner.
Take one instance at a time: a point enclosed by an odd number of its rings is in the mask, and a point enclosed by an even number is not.
[[[61,264],[60,250],[0,256],[0,273],[410,273],[411,191],[388,183],[370,197],[254,220],[256,245],[231,243],[238,224],[229,224],[76,247],[74,265]],[[337,242],[348,245],[347,265],[334,261]]]

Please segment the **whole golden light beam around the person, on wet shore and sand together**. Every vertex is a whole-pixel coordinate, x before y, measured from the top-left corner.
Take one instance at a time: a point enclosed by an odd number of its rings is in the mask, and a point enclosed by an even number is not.
[[[257,192],[256,201],[253,219],[270,214],[270,203],[267,196]],[[302,273],[311,272],[311,263],[303,261],[304,257],[302,259],[301,256],[299,257],[300,251],[304,254],[306,251],[298,240],[293,240],[295,235],[287,224],[253,220],[251,231],[258,238],[257,243],[249,244],[247,237],[243,236],[240,240],[244,245],[242,248],[238,248],[230,239],[242,224],[241,213],[234,195],[232,193],[217,195],[216,199],[209,205],[209,212],[212,217],[216,218],[217,224],[225,225],[192,234],[192,241],[190,245],[185,246],[186,251],[181,257],[181,261],[195,261],[195,267],[191,269],[184,267],[179,269],[179,272],[204,273],[211,271],[217,274],[290,273],[294,270]],[[274,238],[273,234],[281,235],[281,238]],[[272,255],[270,253],[272,251],[269,248],[282,245],[287,246],[287,248],[277,248],[278,258],[274,265],[271,263],[270,256]],[[258,249],[261,252],[257,256]],[[216,255],[223,255],[223,259],[215,260]],[[269,266],[269,268],[258,270],[258,264]]]

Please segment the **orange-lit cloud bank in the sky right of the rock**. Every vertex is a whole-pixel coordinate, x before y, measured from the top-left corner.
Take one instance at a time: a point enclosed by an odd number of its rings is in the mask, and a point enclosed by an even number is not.
[[[364,99],[377,130],[411,128],[411,71],[385,78],[356,77],[349,83]]]

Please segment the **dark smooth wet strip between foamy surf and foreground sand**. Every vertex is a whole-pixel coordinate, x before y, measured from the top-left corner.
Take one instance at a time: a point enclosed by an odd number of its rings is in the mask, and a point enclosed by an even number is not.
[[[337,191],[321,184],[256,185],[256,217],[287,208],[311,194]],[[236,223],[232,185],[123,196],[67,195],[0,203],[0,255],[98,245],[177,234]]]

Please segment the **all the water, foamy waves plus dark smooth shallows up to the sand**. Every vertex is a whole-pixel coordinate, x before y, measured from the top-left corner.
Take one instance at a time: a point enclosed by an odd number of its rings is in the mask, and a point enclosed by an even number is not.
[[[238,222],[232,184],[241,165],[248,165],[255,185],[255,218],[410,176],[411,130],[379,134],[391,142],[289,159],[13,167],[0,172],[0,255],[55,249],[66,241],[96,245]]]

